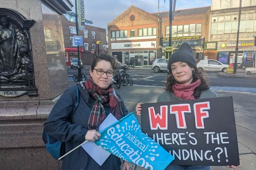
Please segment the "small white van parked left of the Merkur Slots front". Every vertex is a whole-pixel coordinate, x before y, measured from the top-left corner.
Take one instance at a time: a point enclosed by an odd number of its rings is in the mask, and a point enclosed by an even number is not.
[[[204,71],[221,71],[226,72],[227,71],[227,64],[222,64],[217,60],[200,60],[196,64],[198,70],[204,70]]]

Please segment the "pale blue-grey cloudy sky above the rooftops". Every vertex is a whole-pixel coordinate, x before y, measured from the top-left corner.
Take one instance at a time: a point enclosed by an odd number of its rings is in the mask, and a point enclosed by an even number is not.
[[[159,0],[160,12],[169,11],[169,2]],[[107,29],[109,22],[132,5],[148,13],[158,12],[158,0],[85,0],[85,18],[93,22],[92,26]],[[176,10],[203,6],[211,6],[211,0],[176,0]]]

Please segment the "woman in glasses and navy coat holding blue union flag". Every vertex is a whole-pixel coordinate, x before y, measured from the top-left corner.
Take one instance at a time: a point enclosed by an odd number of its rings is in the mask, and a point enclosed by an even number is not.
[[[108,114],[112,113],[120,120],[128,113],[122,98],[111,84],[115,66],[113,57],[109,55],[95,57],[90,67],[90,77],[78,85],[79,104],[72,114],[72,119],[70,113],[77,100],[76,89],[73,86],[60,96],[50,112],[44,129],[50,136],[65,142],[65,152],[74,149],[85,140],[98,140],[98,128]],[[65,156],[62,162],[62,170],[120,170],[120,166],[120,158],[112,154],[100,166],[82,147]],[[129,169],[130,163],[124,161],[122,170]]]

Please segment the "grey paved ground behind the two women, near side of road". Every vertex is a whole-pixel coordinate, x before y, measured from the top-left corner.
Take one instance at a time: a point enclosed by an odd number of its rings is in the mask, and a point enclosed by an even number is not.
[[[134,112],[139,102],[156,102],[158,96],[164,91],[163,87],[153,86],[121,86],[116,90],[122,96],[129,112]],[[214,90],[215,91],[215,90]],[[240,157],[239,170],[256,170],[256,93],[216,91],[218,96],[232,96],[236,119],[236,131]],[[140,117],[137,116],[140,122]],[[211,170],[227,170],[223,166],[212,166]],[[144,170],[136,167],[136,170]]]

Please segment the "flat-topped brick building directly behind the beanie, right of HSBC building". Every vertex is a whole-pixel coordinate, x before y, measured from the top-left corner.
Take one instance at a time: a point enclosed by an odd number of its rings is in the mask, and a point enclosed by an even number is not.
[[[196,61],[203,59],[204,41],[208,37],[208,10],[210,6],[176,10],[172,21],[172,47],[173,52],[180,47],[181,43],[187,42],[193,50]],[[158,16],[157,13],[154,13]],[[169,46],[169,12],[160,12],[162,18],[161,36],[162,49]],[[168,59],[168,56],[165,56]]]

